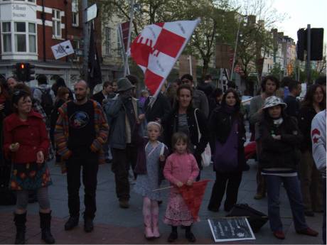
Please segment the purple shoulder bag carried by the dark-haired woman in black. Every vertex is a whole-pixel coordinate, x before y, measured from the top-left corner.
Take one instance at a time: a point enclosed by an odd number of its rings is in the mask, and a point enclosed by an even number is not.
[[[234,124],[232,127],[237,126]],[[237,168],[238,165],[238,146],[237,136],[232,129],[230,135],[225,143],[215,141],[215,155],[213,156],[213,163],[216,171],[227,173],[232,172]]]

